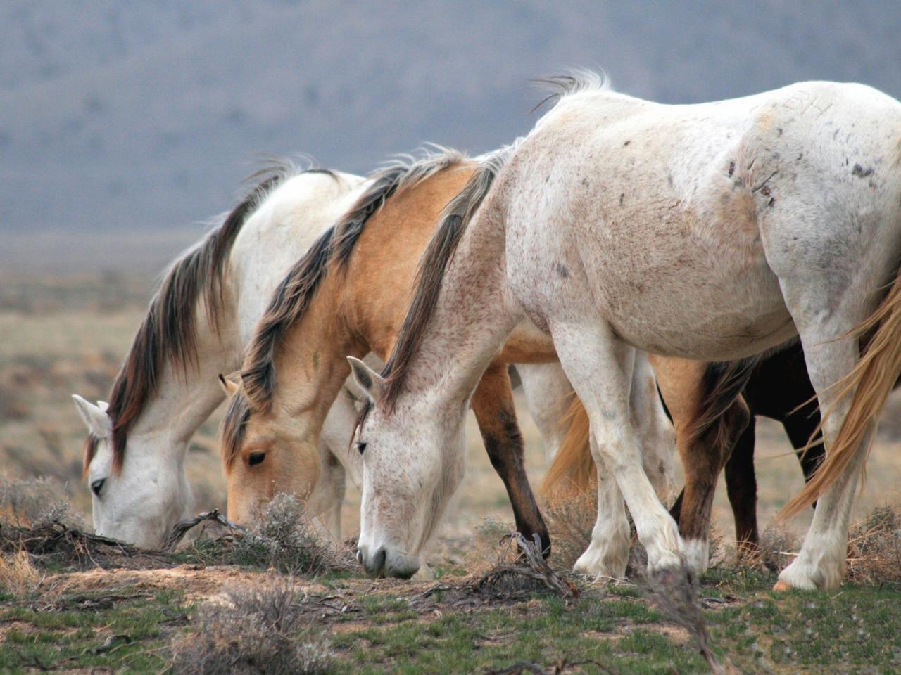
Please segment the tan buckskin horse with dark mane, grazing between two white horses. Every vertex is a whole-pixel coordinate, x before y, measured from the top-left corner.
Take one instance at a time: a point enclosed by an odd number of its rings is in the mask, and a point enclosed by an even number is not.
[[[390,352],[419,257],[434,234],[441,208],[472,175],[471,165],[460,153],[440,149],[387,167],[278,286],[250,341],[223,420],[229,518],[246,522],[275,492],[302,491],[316,481],[310,467],[324,414],[341,396],[350,374],[345,356],[372,352],[385,357]],[[528,326],[514,332],[481,374],[471,407],[491,464],[505,484],[516,527],[530,539],[540,536],[549,552],[547,527],[524,473],[523,438],[507,374],[511,362],[556,360],[550,342],[536,341],[534,334]],[[538,387],[528,386],[528,366],[520,371],[532,402],[545,404]],[[459,404],[465,411],[469,397]],[[650,412],[642,415],[651,417]],[[660,419],[668,426],[662,412]],[[438,486],[439,493],[441,485],[460,480],[460,458],[452,459],[447,464],[439,461],[423,477]],[[669,474],[662,478],[669,479]],[[440,512],[419,509],[405,514],[420,524],[423,536],[417,550],[431,536]]]

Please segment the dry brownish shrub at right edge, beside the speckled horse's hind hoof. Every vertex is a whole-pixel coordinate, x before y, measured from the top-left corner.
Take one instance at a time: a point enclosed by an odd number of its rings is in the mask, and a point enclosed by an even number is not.
[[[859,583],[901,582],[901,508],[878,507],[851,527],[848,578]]]

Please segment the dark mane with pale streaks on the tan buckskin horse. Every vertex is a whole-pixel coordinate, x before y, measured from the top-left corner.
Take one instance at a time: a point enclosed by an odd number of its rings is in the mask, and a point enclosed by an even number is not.
[[[337,261],[341,270],[346,268],[367,221],[391,195],[463,160],[455,150],[438,148],[437,152],[426,153],[419,159],[405,157],[378,171],[350,210],[288,271],[257,324],[241,370],[241,386],[254,410],[269,410],[276,388],[276,349],[287,330],[304,316],[332,260]]]

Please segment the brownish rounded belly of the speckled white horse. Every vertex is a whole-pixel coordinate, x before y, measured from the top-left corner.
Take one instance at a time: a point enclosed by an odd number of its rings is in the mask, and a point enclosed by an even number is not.
[[[628,237],[617,237],[588,265],[599,309],[624,340],[663,356],[731,360],[795,334],[762,250],[660,238],[666,245],[623,264]]]

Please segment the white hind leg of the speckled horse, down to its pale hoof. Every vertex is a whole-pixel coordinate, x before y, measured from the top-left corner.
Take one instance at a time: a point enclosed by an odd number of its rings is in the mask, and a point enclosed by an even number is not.
[[[825,235],[821,235],[817,241],[818,246],[808,252],[793,250],[791,242],[794,239],[786,240],[785,236],[781,237],[782,240],[779,236],[770,237],[772,250],[768,247],[767,257],[778,275],[786,306],[801,338],[807,374],[814,386],[820,410],[830,412],[823,423],[826,467],[831,464],[833,452],[839,452],[833,450],[833,445],[840,437],[842,424],[849,417],[854,401],[854,392],[838,398],[842,387],[833,387],[833,384],[850,374],[860,360],[858,338],[853,334],[853,329],[868,318],[873,304],[873,290],[884,283],[884,275],[890,268],[889,263],[893,261],[874,260],[870,257],[861,258],[853,265],[825,264],[819,251],[868,250],[871,256],[883,257],[891,248],[875,243],[869,248],[859,247],[856,240],[843,239],[856,237],[859,231],[857,228],[839,228],[834,226],[834,221],[831,223],[828,219],[823,222],[821,230],[831,234],[833,241],[824,241]],[[833,226],[832,229],[830,226]],[[792,234],[790,230],[788,233]],[[805,256],[805,253],[808,255]],[[850,262],[842,260],[842,263]],[[896,347],[897,338],[891,333],[897,326],[895,302],[899,293],[898,284],[896,280],[889,291],[887,300],[891,302],[886,305],[887,313],[880,316],[879,328],[871,343],[871,346],[880,346],[880,351],[870,355],[874,359],[871,365],[875,366],[876,372],[873,375],[876,379],[870,382],[874,392],[884,384],[881,380],[883,376],[896,376],[888,373],[889,366],[882,366],[885,365],[883,359],[892,362],[896,358],[891,350]],[[846,565],[854,490],[875,427],[874,414],[878,411],[876,399],[874,396],[872,403],[862,402],[859,404],[860,410],[854,410],[853,438],[860,440],[860,444],[849,442],[843,447],[841,454],[834,455],[840,459],[841,468],[835,467],[831,472],[824,473],[828,477],[828,487],[819,495],[814,519],[807,530],[801,551],[794,562],[779,574],[778,590],[831,589],[841,583]],[[810,484],[816,485],[817,479]]]

